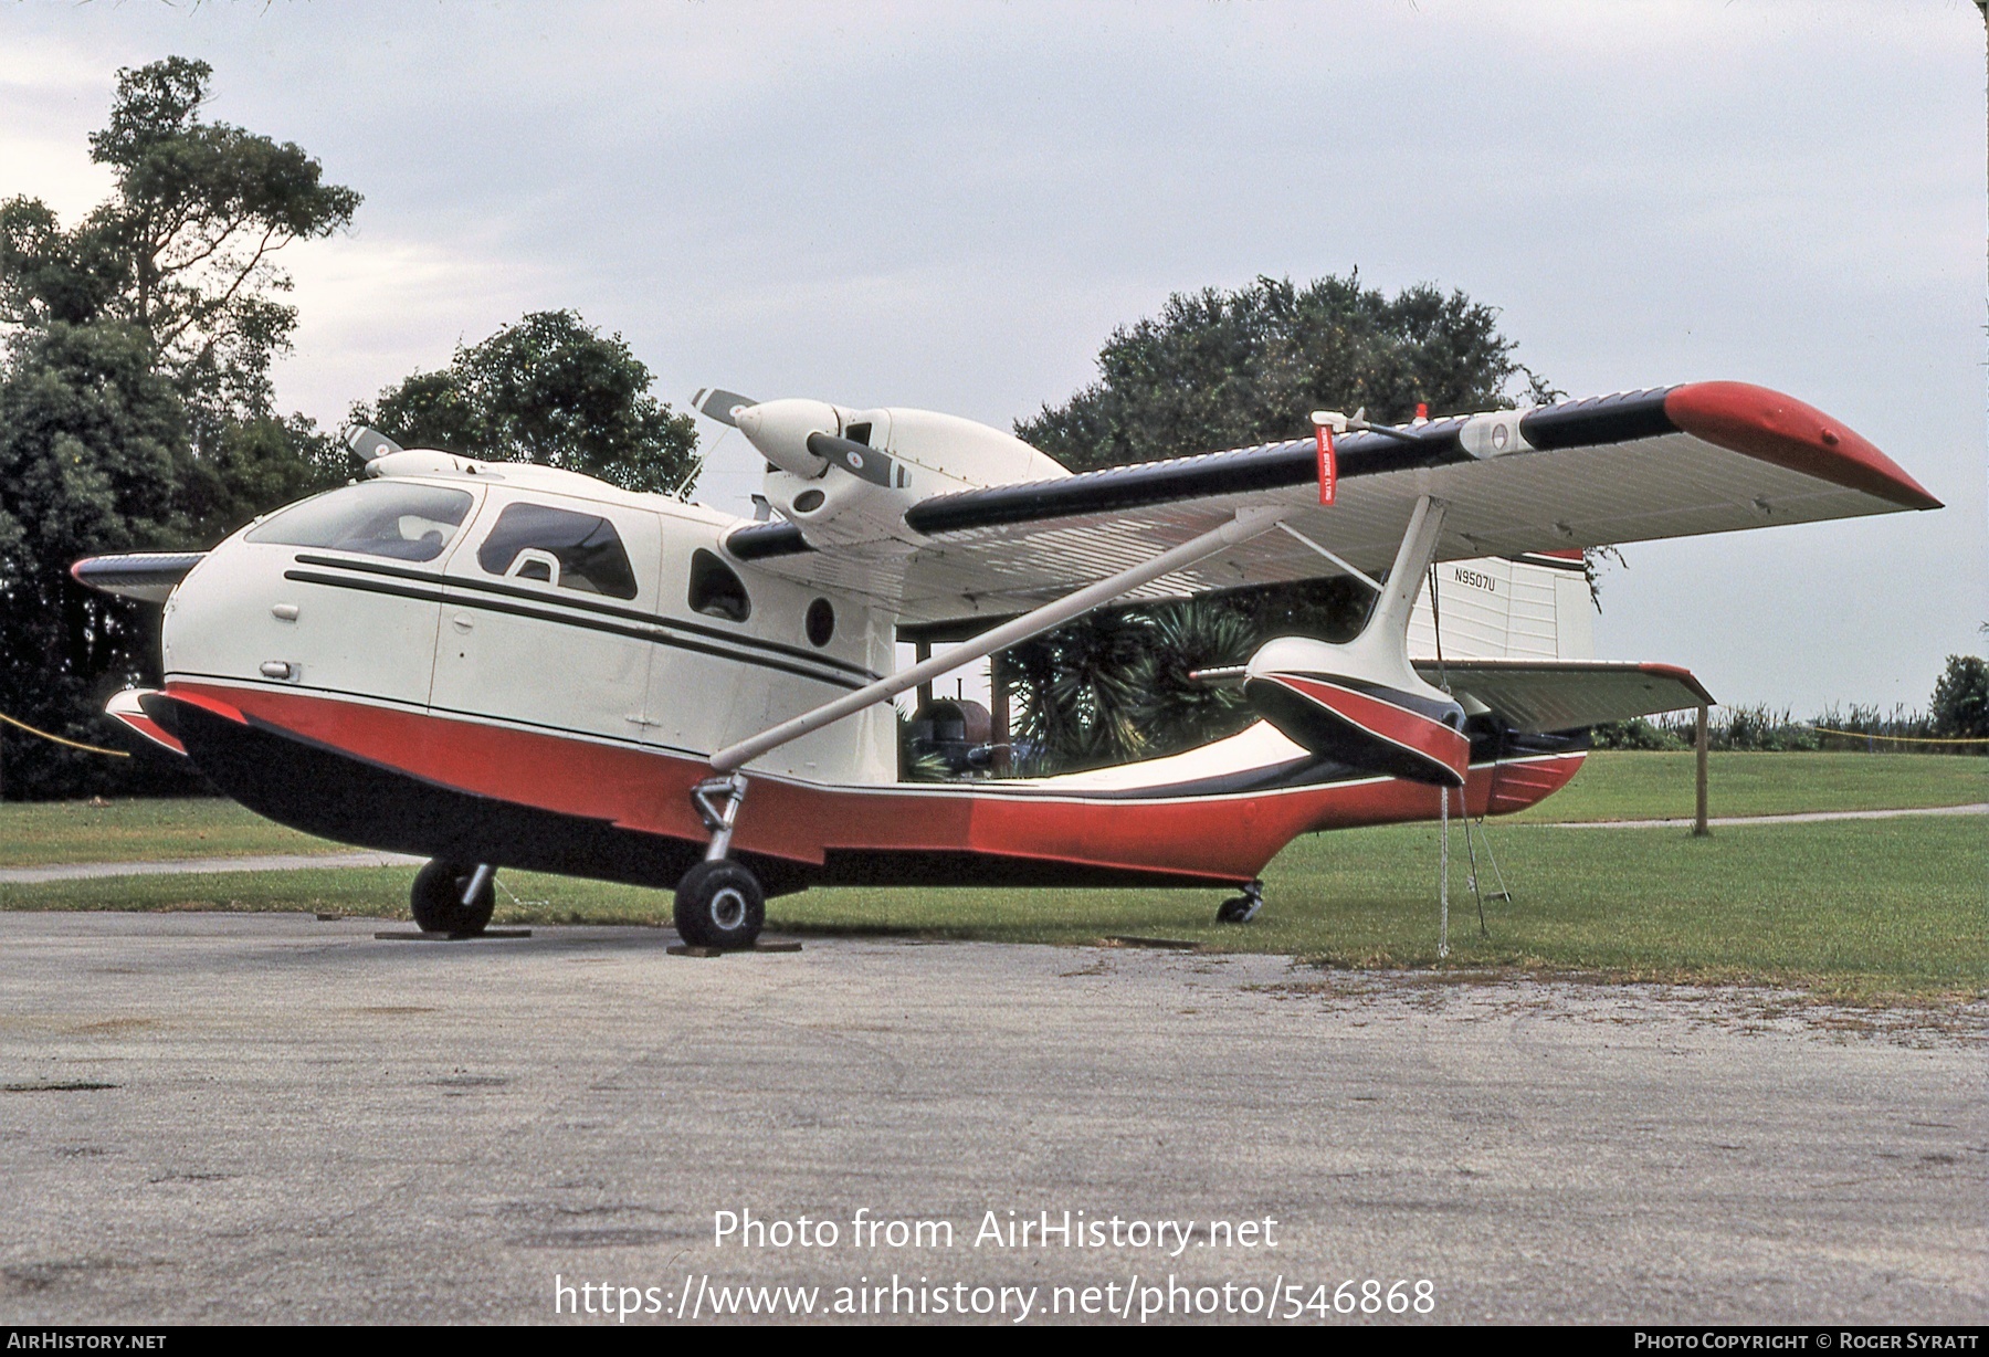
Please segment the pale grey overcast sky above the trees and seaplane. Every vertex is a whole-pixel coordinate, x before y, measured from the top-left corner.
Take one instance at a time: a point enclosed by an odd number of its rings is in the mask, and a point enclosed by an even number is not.
[[[119,66],[366,195],[296,247],[278,394],[324,424],[525,310],[682,406],[1006,428],[1170,292],[1358,269],[1502,308],[1581,396],[1800,396],[1939,513],[1629,547],[1597,647],[1728,702],[1921,706],[1979,651],[1985,40],[1967,0],[0,8],[0,195],[66,217]],[[704,426],[706,446],[718,430]],[[738,436],[700,497],[748,485]]]

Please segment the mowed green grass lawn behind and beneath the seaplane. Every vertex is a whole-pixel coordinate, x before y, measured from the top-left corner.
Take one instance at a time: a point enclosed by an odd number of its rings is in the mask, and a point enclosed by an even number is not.
[[[1466,885],[1464,836],[1452,828],[1452,955],[1444,965],[1770,981],[1848,999],[1983,993],[1989,822],[1979,816],[1724,826],[1707,840],[1671,828],[1541,822],[1553,812],[1561,820],[1679,816],[1691,814],[1691,798],[1689,754],[1599,754],[1526,818],[1494,820],[1492,846],[1514,899],[1488,901],[1488,937]],[[1720,754],[1713,762],[1715,814],[1981,800],[1989,800],[1989,760],[1981,758]],[[91,822],[107,832],[91,834]],[[265,838],[257,838],[259,824]],[[211,802],[93,812],[6,806],[0,832],[8,864],[330,848]],[[119,852],[101,852],[105,844]],[[125,852],[141,844],[147,852]],[[991,941],[1144,935],[1329,965],[1422,967],[1438,963],[1436,864],[1436,826],[1303,838],[1267,870],[1265,911],[1245,927],[1213,923],[1221,891],[1160,889],[819,889],[770,901],[768,919],[772,929],[804,933]],[[113,877],[0,885],[0,905],[406,917],[408,877],[406,868]],[[507,887],[499,921],[654,923],[670,913],[666,891],[525,872],[499,879]]]

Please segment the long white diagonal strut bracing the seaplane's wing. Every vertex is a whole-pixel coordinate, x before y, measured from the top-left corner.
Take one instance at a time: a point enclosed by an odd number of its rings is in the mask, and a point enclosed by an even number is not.
[[[1062,627],[1072,617],[1082,617],[1122,593],[1132,593],[1142,585],[1154,583],[1162,575],[1170,575],[1181,567],[1211,557],[1217,551],[1227,551],[1237,543],[1265,535],[1277,527],[1287,513],[1291,513],[1291,509],[1237,509],[1237,515],[1221,527],[1205,531],[1199,537],[1191,537],[1179,547],[1162,551],[1150,561],[1142,561],[1140,565],[1124,569],[1118,575],[1100,579],[1096,585],[1086,585],[1056,603],[1044,603],[1034,613],[1024,613],[1010,623],[1002,623],[994,631],[985,631],[945,655],[935,655],[933,659],[913,665],[911,669],[903,669],[889,678],[881,678],[865,688],[839,696],[833,702],[825,702],[812,712],[802,712],[794,720],[784,720],[748,740],[728,744],[712,754],[712,770],[718,774],[730,774],[754,758],[760,758],[760,754],[780,748],[790,740],[800,740],[804,734],[814,734],[815,730],[821,730],[829,722],[841,720],[851,712],[859,712],[875,702],[887,702],[899,692],[917,688],[921,682],[929,682],[951,669],[959,669],[961,665],[993,655],[994,651],[1004,651],[1010,645],[1028,641],[1030,637],[1050,631],[1052,627]]]

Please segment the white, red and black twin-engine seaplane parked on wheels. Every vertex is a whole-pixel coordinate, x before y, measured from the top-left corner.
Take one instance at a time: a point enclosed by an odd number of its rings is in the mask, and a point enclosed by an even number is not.
[[[424,929],[479,931],[499,868],[674,887],[682,937],[720,947],[814,883],[1241,887],[1237,919],[1299,834],[1520,810],[1587,726],[1709,700],[1591,659],[1581,547],[1939,507],[1734,382],[1321,412],[1315,440],[1076,476],[925,410],[698,402],[764,454],[778,517],[364,436],[362,480],[211,551],[80,561],[165,605],[163,686],[109,714],[272,820],[432,858]],[[1233,738],[899,778],[891,698],[939,673],[1100,605],[1325,575],[1372,593],[1364,629],[1225,675],[1261,714]],[[959,645],[899,669],[921,635]]]

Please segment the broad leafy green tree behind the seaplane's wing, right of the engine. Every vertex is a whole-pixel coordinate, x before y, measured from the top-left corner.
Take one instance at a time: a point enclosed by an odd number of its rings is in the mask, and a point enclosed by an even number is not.
[[[1233,292],[1168,298],[1120,326],[1098,380],[1018,420],[1018,438],[1072,470],[1309,438],[1311,412],[1404,422],[1418,404],[1460,414],[1555,392],[1514,358],[1492,306],[1418,285],[1384,296],[1358,273],[1307,287],[1259,277]],[[1241,665],[1265,639],[1345,641],[1366,619],[1351,579],[1319,579],[1164,605],[1108,609],[1014,647],[1004,671],[1016,738],[1036,770],[1152,758],[1251,720],[1241,694],[1189,680]]]

